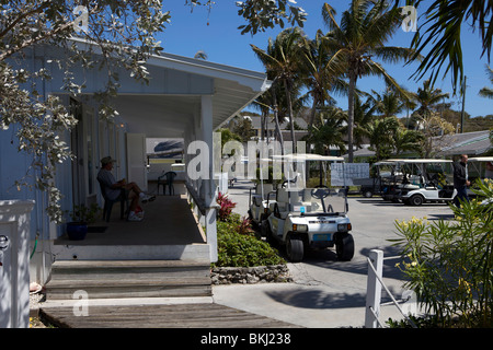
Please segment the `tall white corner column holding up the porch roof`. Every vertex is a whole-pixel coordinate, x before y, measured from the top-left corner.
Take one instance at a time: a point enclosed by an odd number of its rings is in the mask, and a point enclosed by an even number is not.
[[[216,183],[214,180],[214,148],[213,148],[213,96],[202,96],[200,126],[202,139],[209,147],[209,176],[204,179],[206,206],[206,234],[210,246],[210,262],[217,261],[217,225],[216,225]]]

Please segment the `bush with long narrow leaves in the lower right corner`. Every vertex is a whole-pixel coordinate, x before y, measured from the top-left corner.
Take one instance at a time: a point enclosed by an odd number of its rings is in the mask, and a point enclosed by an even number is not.
[[[437,326],[493,325],[493,183],[478,187],[479,200],[451,206],[456,221],[395,223],[400,238],[391,241],[406,257],[398,266]]]

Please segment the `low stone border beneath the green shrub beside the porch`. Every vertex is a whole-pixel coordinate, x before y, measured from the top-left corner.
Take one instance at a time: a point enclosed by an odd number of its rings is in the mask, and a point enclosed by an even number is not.
[[[293,282],[286,265],[255,267],[215,267],[210,272],[213,284],[255,284]]]

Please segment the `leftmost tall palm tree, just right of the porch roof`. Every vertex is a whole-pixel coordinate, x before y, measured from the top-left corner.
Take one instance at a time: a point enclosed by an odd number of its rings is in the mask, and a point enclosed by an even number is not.
[[[297,91],[296,88],[300,81],[300,57],[305,43],[305,34],[299,27],[295,27],[280,32],[275,40],[270,39],[267,51],[251,45],[253,51],[264,63],[267,72],[275,77],[275,83],[284,89],[287,115],[290,120],[293,152],[296,152],[293,93]]]

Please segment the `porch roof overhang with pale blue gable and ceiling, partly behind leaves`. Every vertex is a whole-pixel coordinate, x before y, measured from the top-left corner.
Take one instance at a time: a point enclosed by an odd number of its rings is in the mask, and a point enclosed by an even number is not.
[[[98,59],[98,45],[80,38],[71,40],[80,49],[92,47],[94,60]],[[61,48],[42,47],[39,60],[65,57]],[[200,115],[202,96],[211,96],[213,129],[217,129],[271,86],[265,73],[172,54],[151,56],[146,66],[150,73],[148,84],[137,82],[123,68],[112,71],[119,77],[115,105],[122,119],[130,132],[146,133],[149,138],[183,137]],[[84,93],[90,95],[105,84],[107,67],[92,70],[74,67],[73,74],[84,82]],[[61,72],[56,70],[47,89],[60,93],[64,84]]]

